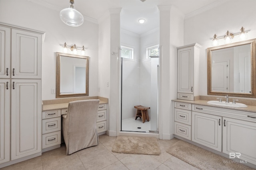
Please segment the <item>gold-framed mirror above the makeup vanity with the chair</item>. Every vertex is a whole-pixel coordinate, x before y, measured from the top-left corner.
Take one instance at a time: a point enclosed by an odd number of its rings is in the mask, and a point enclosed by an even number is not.
[[[56,53],[56,98],[89,95],[89,57]]]

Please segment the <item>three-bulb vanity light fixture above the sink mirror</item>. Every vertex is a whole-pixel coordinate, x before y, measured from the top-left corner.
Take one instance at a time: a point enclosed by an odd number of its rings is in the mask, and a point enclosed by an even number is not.
[[[247,31],[247,32],[244,31],[244,27],[242,27],[242,28],[240,29],[240,33],[232,34],[232,33],[230,33],[229,31],[227,31],[227,32],[225,33],[225,36],[224,36],[224,37],[221,37],[221,38],[217,38],[217,35],[214,34],[213,39],[212,39],[212,46],[219,45],[219,41],[218,41],[218,40],[219,40],[219,39],[222,39],[222,38],[224,39],[224,43],[225,43],[225,44],[231,43],[231,42],[232,42],[232,39],[234,38],[235,35],[238,35],[238,36],[239,36],[239,37],[238,37],[239,41],[244,41],[244,40],[247,39],[247,33],[248,33],[248,31]]]

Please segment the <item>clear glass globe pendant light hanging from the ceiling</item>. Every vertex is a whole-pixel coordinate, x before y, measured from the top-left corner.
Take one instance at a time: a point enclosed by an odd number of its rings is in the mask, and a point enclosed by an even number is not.
[[[70,8],[60,11],[60,19],[67,25],[78,27],[84,23],[84,17],[74,8],[74,0],[70,0],[70,4]]]

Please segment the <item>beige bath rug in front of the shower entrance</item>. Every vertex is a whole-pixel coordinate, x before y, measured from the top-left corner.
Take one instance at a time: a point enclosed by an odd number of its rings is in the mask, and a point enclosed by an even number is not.
[[[160,155],[161,150],[155,137],[119,136],[112,147],[112,152]]]

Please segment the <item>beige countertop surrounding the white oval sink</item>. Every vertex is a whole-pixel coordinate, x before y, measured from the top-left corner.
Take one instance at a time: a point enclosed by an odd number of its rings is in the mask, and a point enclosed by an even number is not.
[[[195,101],[190,101],[190,100],[181,100],[181,99],[175,99],[172,100],[174,102],[182,102],[182,103],[189,103],[189,104],[198,104],[202,106],[211,106],[211,107],[219,107],[219,108],[224,108],[224,109],[233,109],[233,110],[240,110],[240,111],[250,111],[256,113],[256,106],[250,106],[247,105],[248,107],[223,107],[223,106],[217,106],[217,105],[212,105],[208,104],[208,100],[195,100]]]

